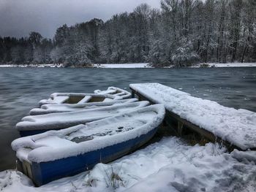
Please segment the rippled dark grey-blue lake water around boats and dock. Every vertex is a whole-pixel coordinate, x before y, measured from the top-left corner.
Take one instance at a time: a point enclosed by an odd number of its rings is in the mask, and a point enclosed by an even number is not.
[[[15,167],[10,143],[15,124],[53,92],[91,93],[108,86],[159,82],[227,107],[256,112],[255,68],[207,69],[0,69],[0,171]]]

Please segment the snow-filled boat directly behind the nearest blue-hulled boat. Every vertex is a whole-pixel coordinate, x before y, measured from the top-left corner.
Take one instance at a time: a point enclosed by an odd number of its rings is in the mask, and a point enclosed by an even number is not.
[[[138,101],[91,110],[31,115],[22,118],[22,121],[16,124],[16,128],[20,131],[20,136],[24,137],[31,134],[40,134],[50,129],[59,130],[61,128],[76,126],[80,123],[88,123],[94,120],[108,118],[122,112],[146,107],[148,104],[148,101]]]

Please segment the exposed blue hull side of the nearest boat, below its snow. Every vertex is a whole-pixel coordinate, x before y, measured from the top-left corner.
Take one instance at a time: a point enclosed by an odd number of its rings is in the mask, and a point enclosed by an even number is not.
[[[32,164],[29,164],[29,167],[24,166],[24,162],[19,162],[21,166],[18,167],[20,167],[20,171],[27,174],[31,180],[33,180],[35,185],[44,185],[61,177],[72,176],[88,169],[92,169],[98,163],[108,163],[120,158],[144,145],[156,132],[157,128],[154,128],[147,134],[143,134],[140,137],[130,139],[126,142],[104,147],[89,153],[62,158],[56,161],[42,163],[32,162]]]

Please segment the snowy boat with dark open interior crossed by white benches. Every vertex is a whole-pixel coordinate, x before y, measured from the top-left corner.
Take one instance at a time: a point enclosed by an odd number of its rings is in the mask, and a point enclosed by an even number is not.
[[[39,106],[43,104],[83,104],[87,102],[110,101],[113,99],[123,99],[121,96],[103,93],[52,93],[49,99],[39,101]]]

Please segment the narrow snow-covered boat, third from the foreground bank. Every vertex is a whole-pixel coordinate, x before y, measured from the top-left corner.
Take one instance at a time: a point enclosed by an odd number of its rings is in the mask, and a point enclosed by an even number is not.
[[[44,104],[41,108],[34,108],[30,110],[29,115],[43,115],[48,113],[54,112],[72,112],[78,110],[88,110],[88,109],[95,109],[100,107],[108,107],[117,104],[126,104],[136,102],[138,99],[121,99],[116,100],[113,99],[112,101],[105,101],[105,102],[89,102],[84,104]]]

